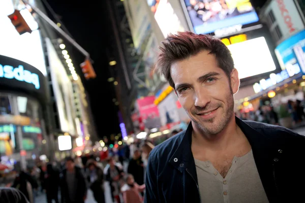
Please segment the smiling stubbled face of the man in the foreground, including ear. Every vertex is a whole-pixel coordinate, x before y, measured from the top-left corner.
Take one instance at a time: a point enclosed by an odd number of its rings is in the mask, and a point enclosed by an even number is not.
[[[221,132],[234,115],[233,94],[238,91],[238,73],[230,80],[218,67],[215,55],[202,51],[171,66],[171,77],[182,107],[193,124],[208,134]]]

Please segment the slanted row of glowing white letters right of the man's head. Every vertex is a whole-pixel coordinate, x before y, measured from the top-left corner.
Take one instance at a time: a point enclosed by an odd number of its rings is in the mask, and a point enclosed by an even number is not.
[[[297,63],[294,65],[287,65],[286,69],[284,71],[281,71],[281,73],[271,73],[270,78],[261,79],[259,83],[255,83],[253,85],[254,92],[258,93],[260,91],[263,91],[271,87],[272,85],[276,85],[300,72],[301,70]]]

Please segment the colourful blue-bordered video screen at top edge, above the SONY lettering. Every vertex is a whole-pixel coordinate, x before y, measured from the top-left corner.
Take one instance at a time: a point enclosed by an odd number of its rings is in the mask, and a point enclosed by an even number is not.
[[[250,0],[184,0],[195,33],[206,34],[259,20]]]

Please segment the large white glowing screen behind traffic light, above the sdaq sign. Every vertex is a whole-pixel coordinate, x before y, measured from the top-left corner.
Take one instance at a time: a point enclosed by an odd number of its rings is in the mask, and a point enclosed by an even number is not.
[[[15,58],[33,65],[44,76],[47,75],[42,40],[38,25],[27,9],[20,11],[33,30],[32,33],[19,35],[8,15],[14,12],[11,0],[0,1],[0,55]],[[35,30],[36,29],[36,30]]]

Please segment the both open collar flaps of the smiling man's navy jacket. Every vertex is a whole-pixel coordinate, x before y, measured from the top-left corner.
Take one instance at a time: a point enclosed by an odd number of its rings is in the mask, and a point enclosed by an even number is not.
[[[253,151],[255,162],[257,167],[262,167],[265,161],[273,160],[273,156],[279,150],[272,141],[264,134],[260,133],[256,129],[252,128],[247,123],[243,122],[239,118],[235,117],[236,124],[240,127],[242,132],[246,135]],[[169,162],[181,173],[186,168],[194,175],[196,175],[196,168],[194,157],[192,154],[192,123],[189,124],[186,131],[181,132],[178,138],[178,147],[171,156]],[[260,160],[260,161],[258,161]]]

